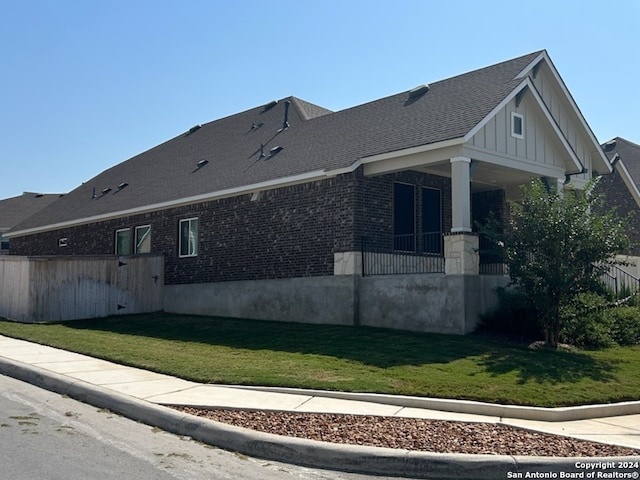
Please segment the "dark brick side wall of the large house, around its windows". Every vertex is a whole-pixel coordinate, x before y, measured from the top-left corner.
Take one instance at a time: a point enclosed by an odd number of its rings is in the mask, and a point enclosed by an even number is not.
[[[335,252],[359,250],[363,235],[393,236],[393,182],[442,190],[451,219],[450,181],[418,172],[364,177],[361,169],[322,181],[171,208],[11,240],[13,255],[109,255],[115,231],[151,225],[151,252],[165,255],[165,283],[333,275]],[[421,202],[416,199],[417,231]],[[198,218],[199,251],[178,256],[179,221]],[[66,246],[59,240],[66,238]],[[392,241],[392,240],[391,240]]]

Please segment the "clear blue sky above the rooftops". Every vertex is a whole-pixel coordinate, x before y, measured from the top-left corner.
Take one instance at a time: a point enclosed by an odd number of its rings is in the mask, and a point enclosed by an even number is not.
[[[0,1],[0,199],[273,99],[339,110],[540,49],[599,141],[640,143],[639,28],[637,0]]]

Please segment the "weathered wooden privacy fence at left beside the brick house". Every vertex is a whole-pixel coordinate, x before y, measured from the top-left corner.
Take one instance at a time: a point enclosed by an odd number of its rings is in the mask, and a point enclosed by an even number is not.
[[[162,310],[164,257],[0,257],[0,317],[20,322]]]

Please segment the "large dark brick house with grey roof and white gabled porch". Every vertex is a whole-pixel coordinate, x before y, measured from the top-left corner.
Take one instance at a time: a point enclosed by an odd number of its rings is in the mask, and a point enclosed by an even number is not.
[[[114,166],[9,232],[14,255],[165,257],[171,312],[467,333],[503,275],[476,220],[610,163],[546,51],[346,110],[295,97]]]

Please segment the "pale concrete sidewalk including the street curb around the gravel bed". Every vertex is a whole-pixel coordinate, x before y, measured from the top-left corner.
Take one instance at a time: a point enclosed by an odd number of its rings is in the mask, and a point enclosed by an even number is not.
[[[186,416],[163,405],[502,423],[640,449],[640,402],[543,409],[393,395],[202,385],[3,336],[0,374],[222,448],[321,468],[412,478],[476,479],[508,478],[510,472],[584,472],[576,467],[576,459],[439,455],[279,437]],[[465,476],[466,471],[470,476]],[[483,471],[489,476],[483,476]],[[496,476],[497,472],[504,475]]]

